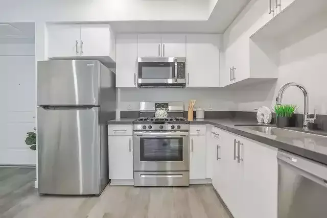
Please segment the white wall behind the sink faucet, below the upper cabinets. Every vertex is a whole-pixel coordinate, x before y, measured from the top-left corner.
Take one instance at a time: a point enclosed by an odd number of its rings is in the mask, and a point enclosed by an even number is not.
[[[327,14],[317,16],[301,29],[290,32],[277,40],[280,47],[280,64],[276,84],[251,86],[240,92],[238,110],[250,111],[255,107],[275,104],[279,88],[288,82],[300,83],[309,92],[309,112],[317,109],[327,114]],[[303,113],[303,94],[297,87],[285,91],[283,103],[295,104]]]

